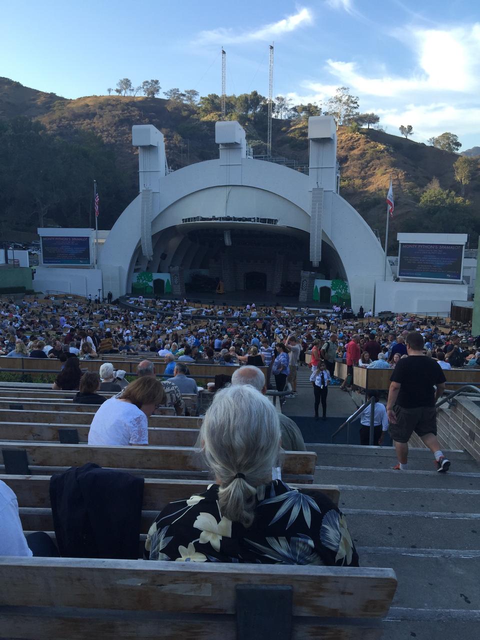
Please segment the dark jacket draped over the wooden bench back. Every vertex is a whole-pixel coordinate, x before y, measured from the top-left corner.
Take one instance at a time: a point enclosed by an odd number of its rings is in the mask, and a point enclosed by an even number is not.
[[[88,463],[50,481],[63,557],[138,559],[143,478]]]

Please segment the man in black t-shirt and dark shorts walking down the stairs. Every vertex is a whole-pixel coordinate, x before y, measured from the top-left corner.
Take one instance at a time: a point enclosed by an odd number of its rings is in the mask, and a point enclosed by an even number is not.
[[[437,471],[445,472],[450,467],[450,461],[440,450],[436,438],[435,409],[436,400],[445,390],[445,375],[436,360],[424,355],[423,346],[419,332],[408,333],[408,358],[397,363],[390,378],[387,413],[390,436],[395,442],[398,458],[394,469],[408,469],[408,440],[415,431],[433,452]]]

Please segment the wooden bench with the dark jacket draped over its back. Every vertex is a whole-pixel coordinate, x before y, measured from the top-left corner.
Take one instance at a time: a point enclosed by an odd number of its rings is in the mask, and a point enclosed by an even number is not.
[[[8,484],[17,496],[20,520],[24,531],[54,531],[50,503],[50,476],[8,476],[0,475],[0,480]],[[150,525],[169,502],[184,500],[196,493],[203,493],[211,484],[208,480],[178,480],[145,478],[143,502],[141,506],[142,536],[148,533]],[[291,484],[315,498],[320,493],[339,504],[340,491],[337,486],[320,484]],[[144,541],[144,537],[142,537]]]

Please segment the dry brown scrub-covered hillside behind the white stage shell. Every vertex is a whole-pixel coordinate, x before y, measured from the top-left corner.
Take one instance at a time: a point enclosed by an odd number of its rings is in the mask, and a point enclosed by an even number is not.
[[[264,153],[265,100],[256,92],[227,100],[230,117],[243,125],[254,153]],[[219,104],[214,94],[197,102],[117,95],[68,100],[0,79],[0,233],[5,238],[20,229],[34,232],[40,223],[90,226],[93,179],[99,185],[100,224],[111,227],[138,193],[132,125],[152,124],[163,132],[168,164],[175,170],[218,157]],[[273,120],[275,156],[308,163],[307,120],[306,114]],[[397,231],[456,230],[470,233],[475,243],[479,170],[476,166],[463,200],[456,195],[460,188],[453,172],[458,157],[383,131],[340,127],[340,193],[382,237],[392,175],[391,250]]]

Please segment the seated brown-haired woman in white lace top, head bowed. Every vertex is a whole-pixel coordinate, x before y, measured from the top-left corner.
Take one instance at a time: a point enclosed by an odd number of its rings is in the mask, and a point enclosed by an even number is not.
[[[148,444],[148,417],[164,399],[159,380],[153,376],[138,378],[121,397],[111,397],[98,408],[88,432],[88,444]]]

